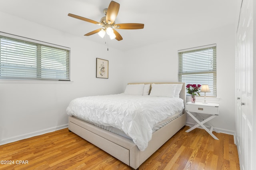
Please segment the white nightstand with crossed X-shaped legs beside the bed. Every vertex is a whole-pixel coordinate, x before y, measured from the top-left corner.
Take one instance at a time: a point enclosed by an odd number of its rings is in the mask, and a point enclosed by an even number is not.
[[[195,128],[201,126],[208,132],[214,139],[219,140],[213,133],[212,130],[219,133],[219,131],[214,128],[208,121],[212,120],[214,117],[217,117],[219,115],[219,104],[216,103],[186,103],[186,112],[188,115],[190,115],[195,121],[196,124],[192,125],[190,129],[186,130],[186,132],[190,132],[191,130],[194,130]],[[192,115],[192,113],[195,113],[196,116]],[[207,114],[208,116],[203,118],[200,114]],[[197,117],[199,119],[197,119]],[[203,124],[207,124],[210,126],[210,130],[206,128]]]

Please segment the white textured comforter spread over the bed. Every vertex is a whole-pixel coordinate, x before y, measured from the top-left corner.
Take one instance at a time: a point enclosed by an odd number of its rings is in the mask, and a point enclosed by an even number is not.
[[[66,111],[68,115],[92,123],[118,128],[144,150],[151,140],[154,125],[182,109],[184,104],[180,98],[122,93],[77,98],[70,102]]]

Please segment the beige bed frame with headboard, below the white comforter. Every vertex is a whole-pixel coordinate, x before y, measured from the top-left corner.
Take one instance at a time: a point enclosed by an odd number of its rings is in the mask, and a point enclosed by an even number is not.
[[[173,82],[178,84],[180,82]],[[139,84],[139,83],[129,83]],[[144,83],[152,84],[152,83]],[[157,83],[156,83],[157,84]],[[166,84],[166,83],[158,83]],[[171,84],[171,83],[169,83]],[[186,103],[186,89],[185,83],[182,83],[182,90],[180,92],[180,98]],[[185,109],[183,114],[165,125],[164,127],[156,130],[152,134],[152,139],[148,142],[148,147],[141,151],[134,144],[134,142],[128,138],[114,134],[102,128],[96,127],[90,123],[86,123],[81,119],[70,116],[68,118],[68,129],[78,136],[81,136],[88,142],[94,144],[98,148],[104,150],[110,155],[114,156],[118,160],[124,162],[134,169],[138,169],[139,166],[147,160],[158,148],[160,148],[167,140],[169,140],[176,132],[178,132],[186,124]]]

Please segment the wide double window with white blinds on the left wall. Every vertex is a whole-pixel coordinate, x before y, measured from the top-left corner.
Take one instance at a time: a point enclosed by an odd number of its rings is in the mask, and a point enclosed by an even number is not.
[[[0,79],[70,80],[69,57],[67,47],[0,33]]]

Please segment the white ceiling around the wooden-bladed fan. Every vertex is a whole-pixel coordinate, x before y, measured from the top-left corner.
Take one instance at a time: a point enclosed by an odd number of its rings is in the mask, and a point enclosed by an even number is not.
[[[117,24],[144,24],[141,30],[116,29],[123,40],[108,40],[108,43],[109,47],[120,50],[163,42],[235,22],[236,0],[115,1],[120,4]],[[102,10],[108,8],[109,3],[110,0],[0,0],[0,11],[104,44],[105,38],[100,38],[98,34],[84,36],[101,26],[69,17],[68,13],[100,21],[104,16]]]

